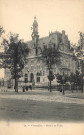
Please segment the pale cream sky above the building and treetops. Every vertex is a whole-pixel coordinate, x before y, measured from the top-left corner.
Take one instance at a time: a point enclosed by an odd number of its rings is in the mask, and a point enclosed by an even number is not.
[[[31,40],[34,16],[40,37],[65,30],[71,43],[77,43],[78,31],[84,32],[83,0],[0,0],[0,25],[6,34],[18,33]]]

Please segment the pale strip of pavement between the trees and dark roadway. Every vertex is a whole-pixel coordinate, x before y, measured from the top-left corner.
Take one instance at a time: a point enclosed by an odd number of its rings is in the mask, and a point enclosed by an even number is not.
[[[65,95],[63,95],[62,92],[49,92],[48,90],[29,90],[24,93],[21,90],[19,90],[19,93],[15,93],[14,90],[2,90],[0,92],[0,98],[84,104],[84,93],[80,91],[74,91],[74,93],[65,91]]]

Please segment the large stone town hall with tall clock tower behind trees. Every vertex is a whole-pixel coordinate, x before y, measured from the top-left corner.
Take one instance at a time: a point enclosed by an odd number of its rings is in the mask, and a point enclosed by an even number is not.
[[[61,64],[59,66],[55,65],[53,67],[53,73],[75,73],[77,69],[77,62],[73,60],[73,51],[71,50],[70,41],[64,30],[62,32],[51,32],[48,36],[39,38],[38,23],[35,17],[31,37],[32,40],[27,42],[28,47],[30,48],[30,53],[27,58],[28,63],[25,65],[25,68],[22,71],[22,77],[20,78],[20,81],[27,79],[31,82],[34,81],[37,85],[48,83],[47,67],[45,63],[38,59],[38,57],[40,57],[40,52],[43,46],[49,46],[52,43],[58,47],[61,53]],[[5,75],[7,75],[9,78],[7,70]],[[56,78],[53,80],[53,83],[56,83]]]

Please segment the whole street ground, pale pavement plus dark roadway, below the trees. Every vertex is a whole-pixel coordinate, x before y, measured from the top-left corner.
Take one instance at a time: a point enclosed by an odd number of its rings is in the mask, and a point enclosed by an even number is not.
[[[29,90],[0,92],[0,120],[84,121],[84,93]]]

